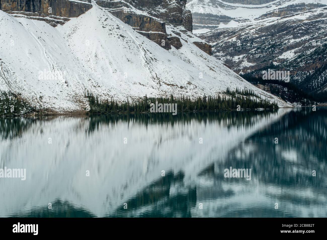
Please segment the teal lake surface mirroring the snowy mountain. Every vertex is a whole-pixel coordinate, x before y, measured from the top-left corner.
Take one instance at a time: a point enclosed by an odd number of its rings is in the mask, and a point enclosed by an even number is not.
[[[327,108],[2,118],[0,168],[27,176],[0,178],[0,216],[326,217],[326,122]]]

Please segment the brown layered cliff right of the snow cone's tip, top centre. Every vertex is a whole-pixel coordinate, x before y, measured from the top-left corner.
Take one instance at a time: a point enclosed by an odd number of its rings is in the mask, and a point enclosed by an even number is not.
[[[186,0],[98,0],[96,3],[167,50],[171,49],[171,46],[179,49],[182,43],[180,34],[175,36],[167,34],[166,24],[176,28],[182,27],[189,32],[193,30],[191,11],[185,8]],[[196,46],[200,45],[201,50],[211,53],[209,44],[204,42],[196,44]]]

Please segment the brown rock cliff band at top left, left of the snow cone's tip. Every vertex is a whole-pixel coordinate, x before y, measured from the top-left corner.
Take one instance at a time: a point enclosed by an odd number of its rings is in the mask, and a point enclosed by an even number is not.
[[[91,9],[90,3],[91,0],[0,0],[0,10],[16,16],[25,15],[30,19],[46,21],[57,26]]]

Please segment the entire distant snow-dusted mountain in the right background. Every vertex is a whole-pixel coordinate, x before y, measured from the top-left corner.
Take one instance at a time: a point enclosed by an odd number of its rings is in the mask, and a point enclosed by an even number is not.
[[[290,81],[306,92],[327,89],[326,0],[193,0],[187,8],[201,28],[194,32],[233,71],[259,77],[267,69],[290,71]],[[229,19],[207,21],[208,11]]]

